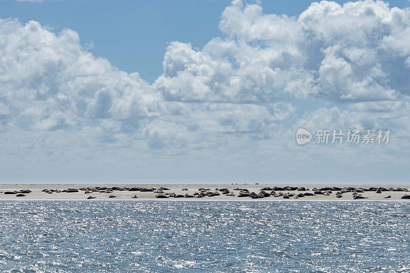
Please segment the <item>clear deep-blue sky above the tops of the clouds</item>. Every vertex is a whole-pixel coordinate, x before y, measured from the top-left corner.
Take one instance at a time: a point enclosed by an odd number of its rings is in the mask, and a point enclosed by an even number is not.
[[[313,1],[263,1],[265,13],[298,15]],[[336,1],[343,4],[346,1]],[[388,1],[396,7],[406,0]],[[178,40],[202,48],[221,35],[219,18],[230,1],[44,1],[0,2],[1,18],[36,20],[55,32],[77,31],[84,47],[95,56],[108,58],[127,72],[137,71],[152,82],[162,73],[162,59],[170,41]]]

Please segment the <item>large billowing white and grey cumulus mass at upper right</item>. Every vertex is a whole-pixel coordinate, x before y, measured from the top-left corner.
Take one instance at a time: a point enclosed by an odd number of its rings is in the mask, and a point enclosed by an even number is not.
[[[155,86],[182,101],[397,100],[410,83],[409,16],[373,1],[313,3],[298,17],[235,2],[222,13],[224,38],[168,47]]]

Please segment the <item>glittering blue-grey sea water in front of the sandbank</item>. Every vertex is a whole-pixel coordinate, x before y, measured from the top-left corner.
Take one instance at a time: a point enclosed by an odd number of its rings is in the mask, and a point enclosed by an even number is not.
[[[406,202],[0,201],[0,208],[0,271],[410,271]]]

